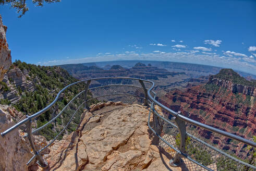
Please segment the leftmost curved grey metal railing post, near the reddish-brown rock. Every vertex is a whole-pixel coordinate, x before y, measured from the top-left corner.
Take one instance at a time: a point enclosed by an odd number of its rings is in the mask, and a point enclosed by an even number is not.
[[[29,115],[26,115],[26,116],[29,118]],[[38,152],[38,150],[36,149],[36,146],[34,144],[34,140],[33,140],[33,137],[32,137],[32,126],[31,126],[31,123],[32,123],[32,120],[29,119],[29,121],[27,121],[27,123],[25,124],[26,128],[27,128],[28,139],[29,139],[30,145],[32,147],[32,150],[33,150],[34,154],[36,155],[36,159],[38,160],[38,162],[36,162],[36,163],[40,167],[46,168],[46,167],[48,167],[48,164],[44,163],[44,160],[43,160],[42,156],[40,155],[40,153]]]

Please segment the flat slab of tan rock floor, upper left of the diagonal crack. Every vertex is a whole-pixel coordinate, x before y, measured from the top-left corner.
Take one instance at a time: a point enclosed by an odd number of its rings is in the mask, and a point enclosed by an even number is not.
[[[140,105],[130,105],[120,111],[113,111],[101,125],[89,132],[82,132],[80,138],[87,146],[91,168],[99,168],[107,156],[121,145],[125,145],[141,125],[147,124],[148,109]]]

